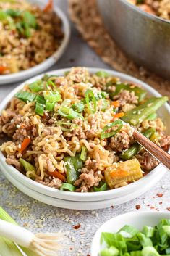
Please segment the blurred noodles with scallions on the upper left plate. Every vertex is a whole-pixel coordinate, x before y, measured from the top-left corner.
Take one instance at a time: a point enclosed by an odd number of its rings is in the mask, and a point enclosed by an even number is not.
[[[54,54],[63,38],[49,1],[44,9],[25,0],[0,0],[0,75],[17,73]]]

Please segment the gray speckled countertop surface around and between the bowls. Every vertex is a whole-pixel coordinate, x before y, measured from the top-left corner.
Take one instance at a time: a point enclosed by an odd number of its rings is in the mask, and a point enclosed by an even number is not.
[[[67,1],[58,0],[56,2],[67,13]],[[82,41],[74,25],[72,25],[72,36],[69,47],[59,62],[52,67],[52,70],[77,65],[109,68]],[[0,101],[15,86],[17,84],[0,86]],[[162,197],[160,197],[161,194]],[[62,256],[87,256],[90,255],[90,243],[95,231],[102,223],[109,220],[109,218],[125,212],[137,211],[136,205],[140,205],[138,211],[170,210],[170,173],[167,172],[153,189],[150,189],[150,191],[137,199],[104,210],[88,211],[64,210],[37,202],[15,189],[0,173],[0,205],[21,226],[27,226],[32,231],[68,231],[69,246],[64,252],[61,252]],[[73,228],[77,224],[80,224],[80,228]]]

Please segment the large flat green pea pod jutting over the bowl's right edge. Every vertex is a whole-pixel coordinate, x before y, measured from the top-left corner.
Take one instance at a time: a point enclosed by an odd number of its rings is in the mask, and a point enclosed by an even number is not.
[[[156,110],[158,110],[167,101],[168,97],[166,96],[159,98],[152,97],[140,106],[135,107],[135,109],[126,112],[124,117],[122,117],[122,120],[132,125],[142,123],[143,120],[145,120],[149,115],[156,112]]]

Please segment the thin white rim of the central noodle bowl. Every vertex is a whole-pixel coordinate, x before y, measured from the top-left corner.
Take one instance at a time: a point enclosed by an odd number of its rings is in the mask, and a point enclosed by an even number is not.
[[[148,86],[148,84],[138,80],[137,78],[133,78],[130,75],[126,75],[124,73],[119,73],[119,72],[116,72],[114,70],[102,69],[100,67],[99,68],[85,67],[85,68],[87,68],[90,73],[96,73],[96,72],[98,72],[98,70],[104,70],[107,73],[109,73],[110,75],[118,77],[121,80],[132,81],[132,83],[136,83],[136,84],[139,84],[140,86],[143,86],[143,88],[145,88],[145,90],[148,92],[148,94],[154,94],[155,96],[161,96],[161,94],[159,94],[158,91],[156,91],[154,88]],[[17,86],[16,88],[14,88],[14,90],[12,90],[11,93],[8,94],[8,96],[1,102],[0,111],[4,110],[4,108],[7,106],[7,103],[10,101],[10,99],[12,99],[12,96],[14,96],[14,94],[16,94],[17,91],[19,91],[23,86],[25,86],[26,83],[32,83],[34,80],[38,80],[38,79],[42,78],[43,75],[46,75],[46,74],[48,74],[48,75],[64,75],[64,73],[69,71],[70,69],[71,69],[71,67],[64,68],[64,69],[61,69],[61,70],[52,70],[52,71],[49,71],[49,72],[47,71],[47,73],[36,75],[35,77],[26,80],[25,82],[21,83],[20,86]],[[148,91],[148,89],[149,89],[149,91]],[[166,107],[166,110],[168,110],[169,115],[170,115],[170,106],[169,106],[169,104],[166,103],[165,107]],[[170,149],[169,149],[169,152],[170,152]],[[6,160],[6,158],[4,157],[4,154],[2,154],[2,152],[0,152],[0,161],[2,161],[2,165],[7,165],[5,160]],[[154,168],[150,173],[148,173],[147,176],[153,176],[154,173],[156,173],[156,171],[158,171],[159,167],[160,167],[160,165],[157,165],[157,167]],[[97,199],[97,198],[101,198],[101,196],[103,196],[103,194],[105,196],[107,196],[109,194],[113,194],[113,195],[117,194],[119,196],[120,192],[128,193],[129,190],[135,189],[135,186],[137,186],[137,185],[140,186],[140,184],[143,185],[143,181],[145,181],[147,179],[147,176],[144,176],[143,178],[140,178],[140,180],[135,181],[134,183],[130,183],[127,186],[122,186],[118,189],[109,189],[107,191],[100,191],[100,192],[85,192],[85,193],[74,192],[73,193],[73,192],[69,192],[69,191],[61,191],[59,189],[50,188],[50,187],[45,186],[41,183],[33,181],[30,178],[27,178],[27,176],[20,173],[20,171],[17,170],[16,168],[14,168],[12,165],[11,166],[7,165],[7,168],[10,168],[16,174],[16,176],[18,176],[22,180],[24,179],[25,182],[30,183],[30,185],[36,186],[37,188],[39,187],[41,189],[42,194],[43,194],[43,192],[42,192],[42,189],[43,189],[43,190],[45,190],[44,194],[46,194],[45,193],[46,190],[48,190],[49,192],[50,191],[51,192],[55,191],[56,193],[61,194],[61,197],[64,196],[64,197],[68,197],[68,198],[72,198],[72,197],[83,198],[83,197],[85,197],[86,199],[90,199],[90,197],[95,197]],[[163,171],[165,173],[166,169],[162,167],[161,172],[163,173]],[[145,184],[145,186],[147,186],[147,185],[148,184]],[[73,200],[73,199],[70,199],[70,200]],[[73,201],[75,201],[75,199]],[[82,199],[82,201],[83,201],[83,199]]]

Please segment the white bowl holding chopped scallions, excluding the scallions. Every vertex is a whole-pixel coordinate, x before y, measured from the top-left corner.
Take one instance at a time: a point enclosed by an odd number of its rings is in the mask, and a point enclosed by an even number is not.
[[[106,221],[98,228],[91,244],[91,256],[98,256],[101,250],[101,233],[119,231],[124,225],[142,229],[143,226],[156,226],[163,218],[170,218],[170,212],[128,212]]]

